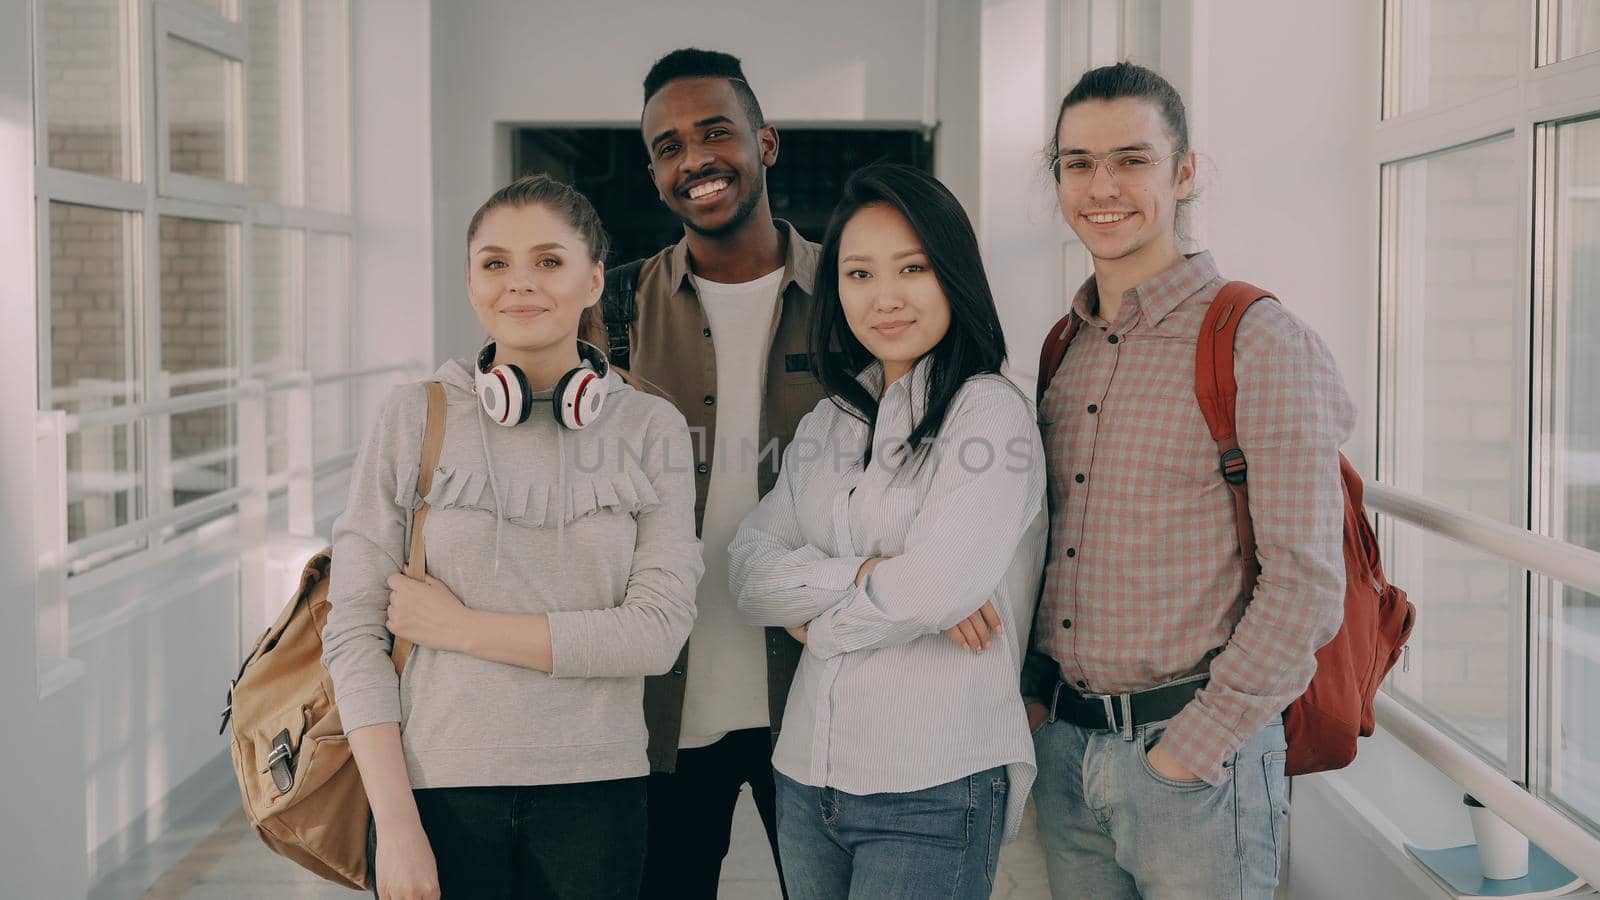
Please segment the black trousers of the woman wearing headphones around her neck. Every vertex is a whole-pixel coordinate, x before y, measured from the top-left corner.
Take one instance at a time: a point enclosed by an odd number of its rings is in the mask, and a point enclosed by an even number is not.
[[[413,794],[443,900],[638,897],[643,778]]]

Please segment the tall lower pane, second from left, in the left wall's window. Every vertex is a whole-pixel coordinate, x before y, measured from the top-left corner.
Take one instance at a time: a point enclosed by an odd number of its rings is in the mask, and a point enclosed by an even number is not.
[[[162,370],[173,396],[235,383],[229,323],[235,227],[162,216]],[[232,487],[232,407],[168,421],[171,466],[158,471],[162,500],[178,506]],[[163,458],[155,463],[160,466]]]

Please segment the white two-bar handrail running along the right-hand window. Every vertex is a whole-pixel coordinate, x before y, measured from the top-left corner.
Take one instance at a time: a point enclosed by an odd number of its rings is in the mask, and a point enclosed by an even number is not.
[[[1480,552],[1504,559],[1530,572],[1555,578],[1563,585],[1600,594],[1600,552],[1573,546],[1555,538],[1534,535],[1464,512],[1394,485],[1368,482],[1368,506],[1386,516],[1453,540]],[[1387,693],[1374,703],[1378,724],[1400,743],[1461,785],[1496,815],[1528,836],[1562,865],[1600,886],[1600,839],[1550,804],[1528,793],[1488,765],[1472,751]]]

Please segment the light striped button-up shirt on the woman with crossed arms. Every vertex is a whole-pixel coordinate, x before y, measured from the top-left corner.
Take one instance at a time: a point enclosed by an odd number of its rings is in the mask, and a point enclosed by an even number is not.
[[[810,623],[778,772],[875,794],[1006,765],[1011,839],[1035,773],[1018,679],[1045,559],[1043,445],[1027,397],[982,375],[926,456],[902,466],[928,365],[888,391],[878,364],[861,375],[883,392],[866,468],[866,424],[830,400],[800,421],[778,485],[728,549],[730,588],[754,625]],[[888,559],[858,588],[877,556]],[[1003,623],[990,650],[942,634],[990,599]]]

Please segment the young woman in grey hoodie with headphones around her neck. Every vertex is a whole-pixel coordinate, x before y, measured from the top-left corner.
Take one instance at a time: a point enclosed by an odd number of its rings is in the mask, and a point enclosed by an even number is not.
[[[677,658],[702,564],[683,416],[578,341],[606,247],[565,184],[530,176],[490,197],[467,227],[490,341],[434,373],[446,428],[427,496],[424,384],[389,396],[357,460],[323,663],[382,898],[638,890],[643,676]],[[411,580],[424,501],[427,575]],[[416,644],[400,676],[395,637]]]

